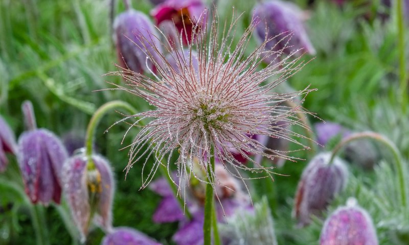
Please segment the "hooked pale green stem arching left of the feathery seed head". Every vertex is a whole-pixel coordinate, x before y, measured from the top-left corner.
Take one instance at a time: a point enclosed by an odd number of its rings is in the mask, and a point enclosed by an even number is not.
[[[93,141],[95,130],[99,122],[101,121],[102,117],[107,113],[109,110],[113,108],[123,108],[128,110],[132,114],[137,114],[137,110],[135,110],[131,105],[123,101],[111,101],[102,105],[98,110],[94,113],[88,123],[88,127],[86,129],[85,134],[85,155],[91,156],[93,153]],[[90,158],[89,158],[90,159]],[[88,161],[88,169],[95,169],[95,164],[92,160]]]

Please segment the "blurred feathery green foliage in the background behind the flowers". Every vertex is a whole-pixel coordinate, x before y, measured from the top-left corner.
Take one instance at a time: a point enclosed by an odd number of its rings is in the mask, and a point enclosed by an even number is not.
[[[147,0],[131,2],[135,9],[147,14],[152,8]],[[236,13],[244,12],[238,26],[242,32],[251,20],[256,1],[218,2],[221,20],[231,18],[233,6]],[[317,88],[303,104],[308,111],[355,131],[382,133],[407,160],[409,123],[408,114],[398,105],[396,17],[392,10],[381,9],[379,1],[368,2],[346,1],[340,7],[329,0],[295,1],[309,15],[306,26],[317,54],[304,57],[311,59],[309,64],[288,84],[294,89],[309,85]],[[121,1],[116,7],[116,14],[124,10]],[[379,11],[390,12],[391,17],[376,17],[374,13]],[[111,90],[112,85],[106,82],[121,83],[119,77],[103,76],[115,70],[117,62],[109,12],[109,1],[102,0],[0,0],[0,113],[16,135],[24,126],[20,112],[24,100],[33,102],[38,126],[60,136],[71,131],[84,133],[92,113],[111,100],[127,101],[141,111],[149,107],[139,98]],[[256,45],[254,40],[249,51]],[[139,190],[139,167],[133,167],[124,180],[128,156],[127,150],[119,149],[131,140],[127,137],[120,144],[127,126],[117,125],[104,134],[121,117],[119,113],[109,113],[101,122],[96,140],[98,151],[115,169],[114,226],[133,227],[171,244],[177,224],[152,222],[160,197],[149,189]],[[309,119],[312,123],[320,121],[312,116]],[[378,149],[382,151],[381,147]],[[308,159],[306,151],[294,155]],[[348,187],[329,211],[354,196],[372,215],[381,244],[409,244],[405,235],[409,219],[400,216],[396,202],[393,160],[386,152],[382,156],[384,160],[373,171],[349,165],[352,174]],[[26,200],[13,191],[12,185],[21,185],[21,180],[13,174],[18,171],[12,170],[17,168],[12,161],[0,181],[0,244],[35,244],[29,210],[17,205]],[[277,176],[272,187],[265,180],[252,182],[254,201],[261,200],[263,194],[267,196],[279,244],[316,244],[319,239],[322,220],[315,218],[312,225],[297,228],[291,218],[294,193],[306,164],[307,161],[287,162],[279,171],[289,176]],[[70,244],[58,210],[50,206],[44,211],[51,243]],[[93,230],[87,244],[99,244],[102,236],[102,231]]]

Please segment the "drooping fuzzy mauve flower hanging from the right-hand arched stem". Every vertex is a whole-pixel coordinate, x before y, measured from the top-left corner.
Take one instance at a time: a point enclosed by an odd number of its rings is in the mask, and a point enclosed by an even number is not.
[[[348,172],[344,162],[331,153],[316,155],[304,169],[297,187],[293,215],[300,225],[310,222],[311,215],[320,215],[336,194],[344,189]]]

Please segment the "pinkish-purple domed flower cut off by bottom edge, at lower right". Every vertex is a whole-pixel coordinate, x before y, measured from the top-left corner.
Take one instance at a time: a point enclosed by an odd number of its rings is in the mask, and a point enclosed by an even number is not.
[[[337,208],[327,218],[320,237],[320,245],[349,244],[378,244],[368,212],[353,204]]]

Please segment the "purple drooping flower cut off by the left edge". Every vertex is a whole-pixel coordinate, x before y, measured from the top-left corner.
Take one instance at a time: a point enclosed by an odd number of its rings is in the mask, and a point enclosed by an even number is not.
[[[6,153],[15,154],[17,143],[14,137],[14,132],[11,130],[7,122],[0,116],[0,173],[6,170],[9,160]]]

